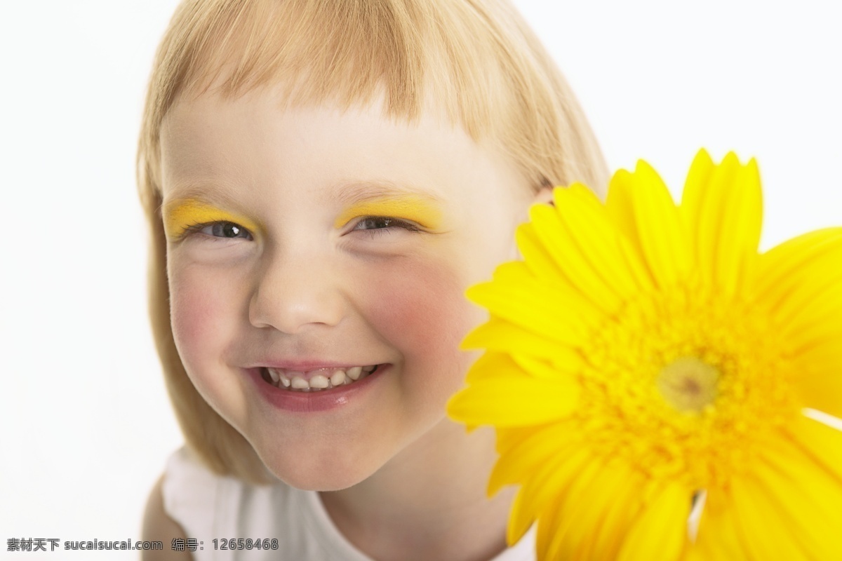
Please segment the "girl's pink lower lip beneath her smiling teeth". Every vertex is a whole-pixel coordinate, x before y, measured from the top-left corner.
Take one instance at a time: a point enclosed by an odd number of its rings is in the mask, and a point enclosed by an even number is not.
[[[290,391],[289,389],[278,389],[264,380],[260,375],[261,368],[248,368],[248,377],[258,388],[269,405],[276,409],[294,411],[296,413],[313,413],[338,409],[348,405],[352,400],[359,399],[360,394],[371,387],[377,378],[389,368],[391,364],[381,364],[377,369],[361,380],[347,386],[338,388],[321,389],[319,391],[301,392]]]

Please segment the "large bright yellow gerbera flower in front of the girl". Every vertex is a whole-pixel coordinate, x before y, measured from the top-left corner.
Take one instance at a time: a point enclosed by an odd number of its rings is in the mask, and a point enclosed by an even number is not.
[[[701,151],[676,206],[641,161],[557,188],[449,413],[497,428],[492,494],[543,559],[842,558],[842,228],[759,253],[754,160]],[[699,517],[701,516],[701,518]]]

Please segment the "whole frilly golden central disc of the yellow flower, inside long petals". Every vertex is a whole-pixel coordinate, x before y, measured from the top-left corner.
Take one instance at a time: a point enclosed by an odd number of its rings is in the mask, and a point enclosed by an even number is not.
[[[573,430],[648,477],[727,485],[800,411],[772,321],[755,303],[697,284],[641,294],[589,333]]]

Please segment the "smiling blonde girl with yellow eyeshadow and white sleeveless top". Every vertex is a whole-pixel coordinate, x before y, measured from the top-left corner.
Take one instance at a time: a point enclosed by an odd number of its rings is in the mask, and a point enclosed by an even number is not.
[[[445,417],[485,320],[463,293],[605,166],[506,0],[186,0],[138,170],[187,442],[148,558],[534,558],[486,496],[493,432]]]

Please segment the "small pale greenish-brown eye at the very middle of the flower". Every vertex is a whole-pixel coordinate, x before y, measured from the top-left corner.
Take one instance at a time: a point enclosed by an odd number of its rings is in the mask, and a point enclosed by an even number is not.
[[[674,409],[701,413],[717,399],[719,370],[696,357],[681,357],[658,373],[658,391]]]

